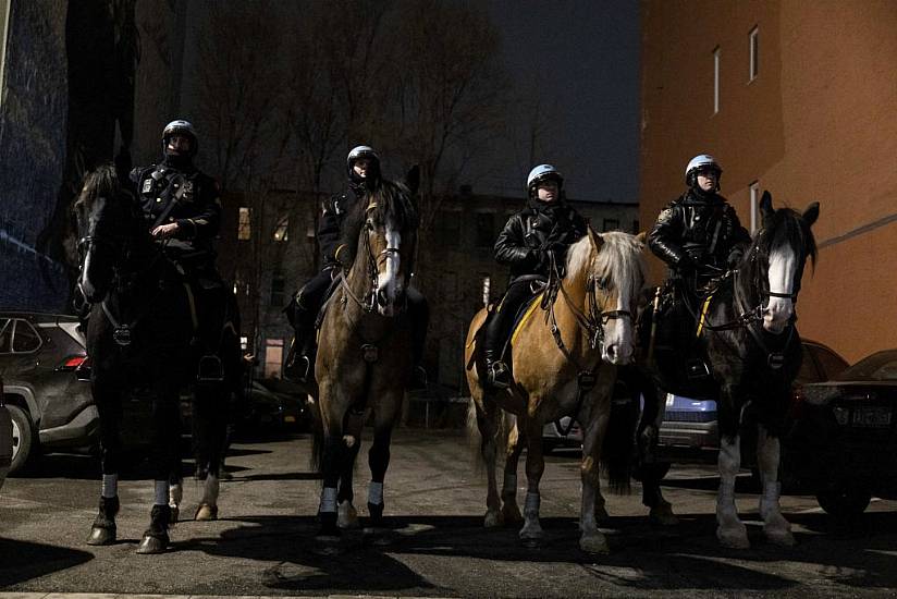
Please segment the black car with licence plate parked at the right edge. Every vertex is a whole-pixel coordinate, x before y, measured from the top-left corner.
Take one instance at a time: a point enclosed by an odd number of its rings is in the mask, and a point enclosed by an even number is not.
[[[833,515],[897,498],[897,349],[874,353],[795,398],[783,474]]]

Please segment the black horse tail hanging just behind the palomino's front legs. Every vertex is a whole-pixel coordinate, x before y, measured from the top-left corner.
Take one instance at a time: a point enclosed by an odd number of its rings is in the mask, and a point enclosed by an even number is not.
[[[611,399],[611,417],[601,448],[601,469],[607,476],[614,493],[626,494],[630,490],[629,477],[635,456],[635,432],[639,418],[639,405],[632,398]]]

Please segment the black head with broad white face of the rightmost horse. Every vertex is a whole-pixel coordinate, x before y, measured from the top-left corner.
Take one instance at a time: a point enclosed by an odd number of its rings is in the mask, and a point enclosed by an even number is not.
[[[811,231],[819,218],[819,203],[803,213],[773,209],[770,192],[760,200],[763,221],[747,258],[754,262],[753,283],[760,293],[763,328],[781,333],[791,321],[807,258],[815,264],[816,243]]]

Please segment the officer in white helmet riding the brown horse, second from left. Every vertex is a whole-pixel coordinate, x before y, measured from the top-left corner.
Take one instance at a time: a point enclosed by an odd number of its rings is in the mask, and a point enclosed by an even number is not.
[[[315,358],[317,356],[317,328],[320,325],[319,313],[330,294],[335,289],[334,281],[340,274],[341,259],[351,256],[340,255],[344,249],[341,240],[346,233],[343,225],[346,215],[365,198],[381,179],[380,157],[370,146],[356,146],[346,157],[346,187],[333,195],[322,206],[318,223],[318,247],[320,249],[321,270],[296,293],[286,308],[286,315],[296,331],[296,339],[291,349],[285,374],[303,383],[315,380]],[[348,266],[348,265],[345,265]],[[406,301],[411,320],[411,352],[414,369],[410,376],[410,389],[427,387],[427,371],[421,362],[427,340],[429,307],[427,300],[417,289],[407,288]]]

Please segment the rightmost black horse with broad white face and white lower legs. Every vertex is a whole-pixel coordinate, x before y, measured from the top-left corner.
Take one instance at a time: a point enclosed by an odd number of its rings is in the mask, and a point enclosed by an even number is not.
[[[791,386],[800,370],[802,354],[795,305],[807,258],[815,262],[811,225],[819,218],[819,204],[811,204],[803,213],[789,208],[774,210],[772,196],[764,192],[760,211],[762,225],[738,268],[723,277],[702,302],[687,306],[693,318],[684,320],[697,329],[673,323],[677,337],[690,330],[696,343],[686,345],[691,345],[692,351],[697,349],[706,365],[706,376],[689,389],[683,387],[683,378],[671,380],[661,374],[668,374],[675,367],[660,364],[660,354],[652,365],[659,367],[654,374],[661,388],[691,396],[706,395],[710,390],[716,399],[721,445],[716,536],[722,545],[734,548],[749,547],[734,494],[735,476],[741,462],[740,432],[748,421],[757,425],[763,531],[771,542],[788,546],[795,542],[790,525],[779,510],[778,438]],[[663,330],[662,316],[655,314],[654,318],[660,325],[658,330]],[[666,334],[658,335],[658,344],[675,346],[677,343],[668,339],[669,327],[666,328]],[[683,351],[681,342],[678,340],[679,346],[674,353],[695,355]],[[681,360],[678,364],[681,366]]]

